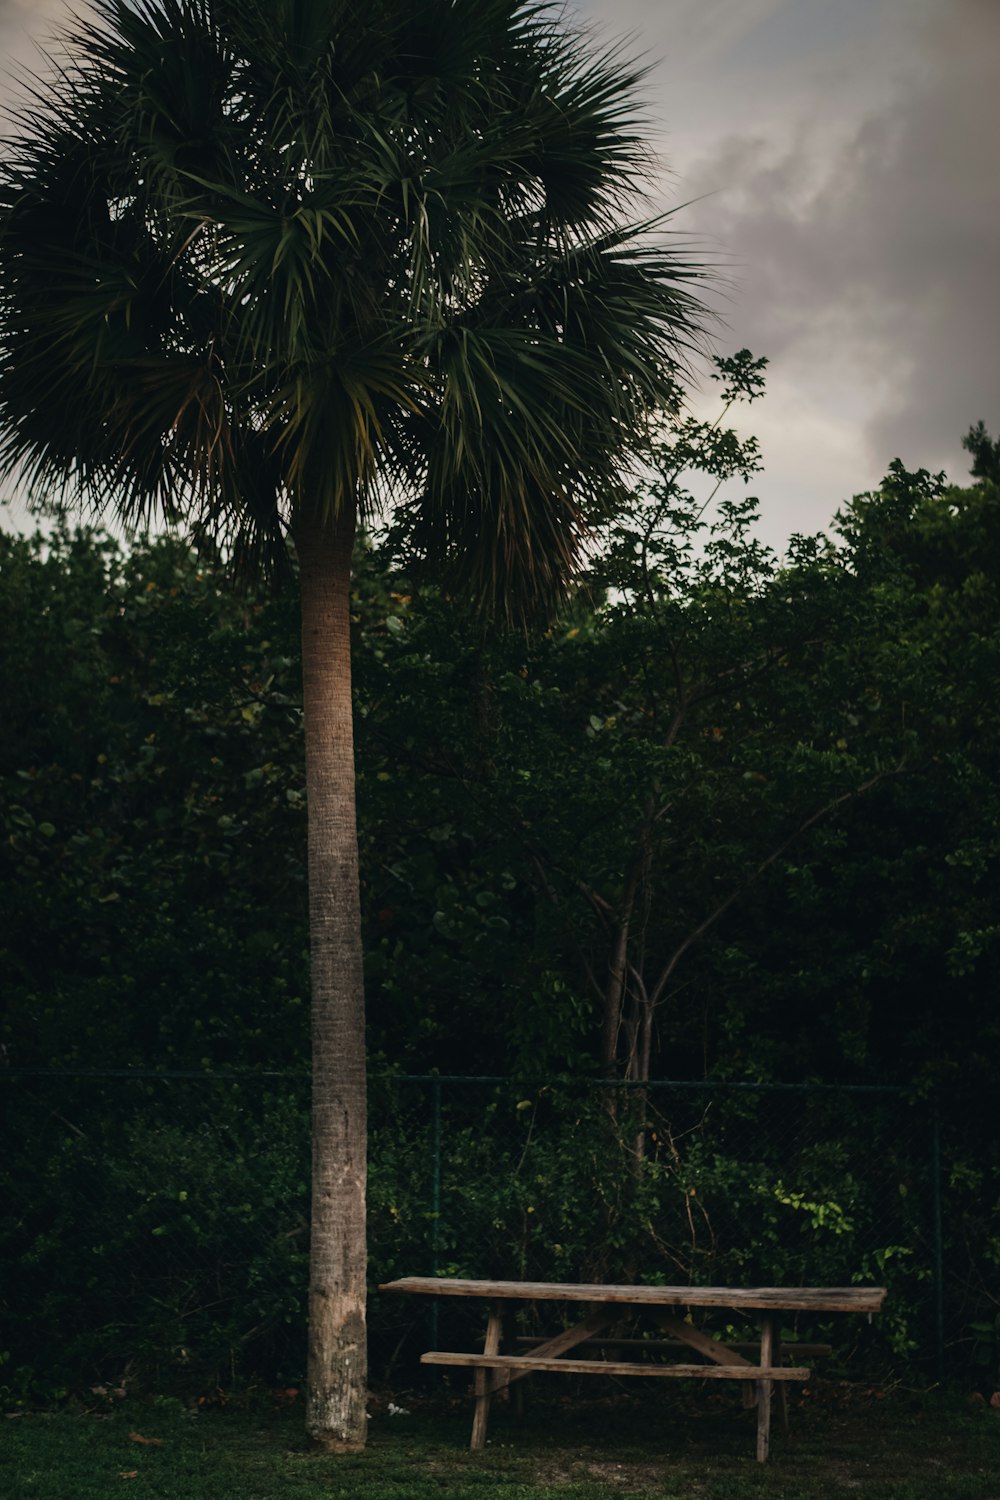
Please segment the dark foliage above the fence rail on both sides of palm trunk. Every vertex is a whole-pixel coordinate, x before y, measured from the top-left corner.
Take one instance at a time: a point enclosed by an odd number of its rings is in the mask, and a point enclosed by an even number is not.
[[[1000,494],[894,465],[778,561],[753,501],[699,519],[696,438],[543,634],[361,549],[372,1054],[985,1083]],[[291,600],[171,537],[0,546],[9,1065],[304,1062]]]

